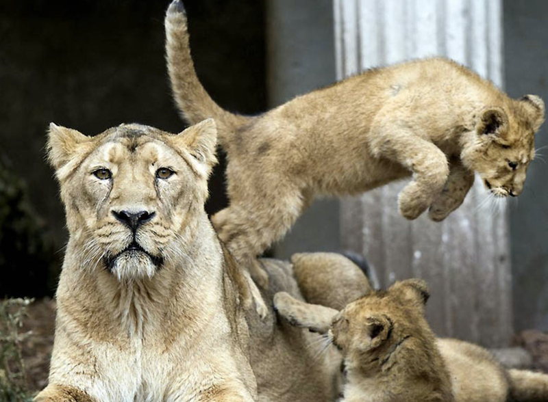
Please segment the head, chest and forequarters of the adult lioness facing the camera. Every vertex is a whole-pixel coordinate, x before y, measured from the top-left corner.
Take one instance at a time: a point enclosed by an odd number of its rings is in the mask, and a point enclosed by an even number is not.
[[[69,244],[40,402],[256,400],[247,284],[203,204],[212,119],[173,135],[51,124]]]

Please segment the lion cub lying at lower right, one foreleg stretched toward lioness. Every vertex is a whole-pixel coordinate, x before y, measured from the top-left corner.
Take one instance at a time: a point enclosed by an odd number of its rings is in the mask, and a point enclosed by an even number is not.
[[[327,334],[343,354],[347,402],[548,401],[548,375],[506,372],[485,349],[436,339],[424,317],[422,280],[396,282],[338,312],[277,293],[274,305],[293,325]]]

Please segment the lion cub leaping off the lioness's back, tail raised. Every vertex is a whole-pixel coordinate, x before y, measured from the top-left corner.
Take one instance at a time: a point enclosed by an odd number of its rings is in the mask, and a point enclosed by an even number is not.
[[[319,194],[368,191],[412,175],[399,212],[435,221],[458,208],[478,172],[517,196],[544,120],[538,96],[509,98],[448,59],[366,71],[259,116],[221,109],[196,75],[181,1],[166,16],[166,58],[184,119],[213,117],[227,151],[230,205],[212,218],[240,262],[281,239]],[[258,268],[256,264],[251,267]],[[265,284],[264,273],[252,272]]]

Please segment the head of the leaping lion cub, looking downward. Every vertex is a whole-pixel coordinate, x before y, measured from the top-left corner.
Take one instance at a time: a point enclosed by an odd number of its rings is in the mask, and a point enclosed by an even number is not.
[[[535,156],[535,133],[544,114],[543,100],[534,95],[513,100],[508,112],[492,107],[480,114],[461,158],[478,172],[494,196],[519,196],[523,191],[527,168]]]

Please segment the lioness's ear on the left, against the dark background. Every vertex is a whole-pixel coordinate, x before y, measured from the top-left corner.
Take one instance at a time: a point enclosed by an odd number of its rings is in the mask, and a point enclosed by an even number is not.
[[[66,165],[77,153],[80,146],[91,141],[79,131],[49,123],[47,157],[55,170]]]

